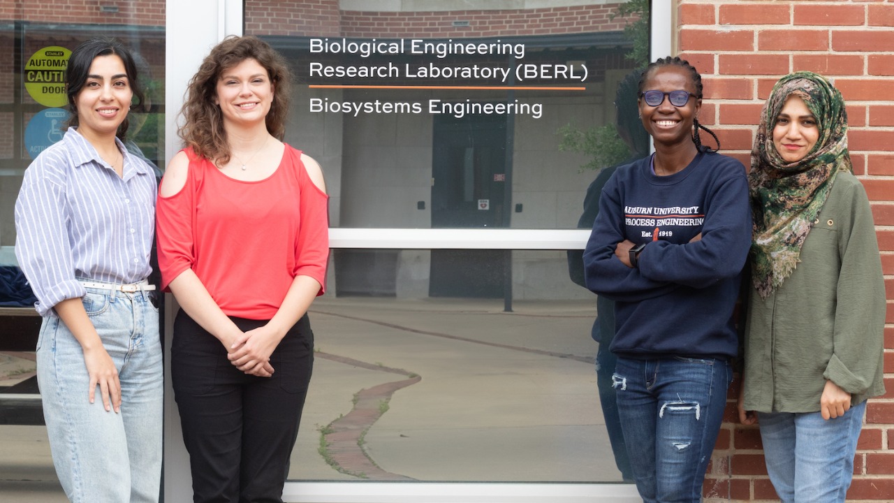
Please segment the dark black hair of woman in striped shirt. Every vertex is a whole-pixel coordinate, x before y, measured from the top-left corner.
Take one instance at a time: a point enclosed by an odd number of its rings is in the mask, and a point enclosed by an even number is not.
[[[97,37],[84,41],[80,46],[75,47],[72,55],[68,58],[68,65],[65,68],[65,94],[68,96],[68,112],[71,114],[66,123],[72,127],[80,125],[80,116],[78,115],[78,106],[76,100],[80,90],[84,89],[84,84],[90,73],[90,65],[93,60],[101,55],[116,55],[121,58],[124,64],[124,72],[127,73],[128,85],[136,103],[131,102],[130,110],[142,107],[143,101],[146,99],[143,90],[139,86],[139,75],[137,64],[134,61],[131,51],[116,38]],[[127,135],[127,128],[130,126],[130,120],[125,117],[115,136],[124,141]]]

